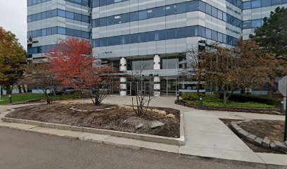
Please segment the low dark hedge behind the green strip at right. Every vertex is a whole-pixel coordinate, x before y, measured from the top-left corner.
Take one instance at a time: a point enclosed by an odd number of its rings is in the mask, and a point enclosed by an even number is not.
[[[219,98],[223,99],[223,93],[218,93]],[[254,95],[247,95],[247,94],[232,94],[229,97],[229,101],[235,101],[235,102],[255,102],[259,104],[267,104],[267,105],[273,105],[278,106],[280,104],[279,100],[272,99],[266,96],[254,96]]]

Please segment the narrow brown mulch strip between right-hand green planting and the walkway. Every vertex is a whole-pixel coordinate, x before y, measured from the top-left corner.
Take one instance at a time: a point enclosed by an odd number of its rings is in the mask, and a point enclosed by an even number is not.
[[[261,113],[261,114],[272,114],[272,115],[283,115],[277,109],[272,108],[232,108],[232,107],[212,107],[212,106],[203,106],[200,108],[198,105],[190,106],[186,104],[186,101],[179,100],[174,101],[174,104],[179,104],[181,106],[186,106],[190,108],[196,108],[200,110],[207,111],[233,111],[233,112],[243,112],[243,113]]]

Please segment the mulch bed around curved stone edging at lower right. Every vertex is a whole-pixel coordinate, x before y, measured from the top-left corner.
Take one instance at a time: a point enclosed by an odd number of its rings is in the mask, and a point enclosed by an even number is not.
[[[234,119],[221,119],[222,122],[227,125],[231,130],[231,122],[237,122],[241,120]],[[283,129],[284,122],[276,120],[250,120],[239,125],[243,130],[251,134],[255,134],[257,137],[264,139],[265,137],[272,141],[283,141]],[[238,136],[240,137],[240,136]],[[241,138],[241,137],[240,137]],[[241,140],[256,153],[272,153],[283,154],[283,152],[272,151],[271,149],[264,149],[260,146],[256,146],[241,138]]]

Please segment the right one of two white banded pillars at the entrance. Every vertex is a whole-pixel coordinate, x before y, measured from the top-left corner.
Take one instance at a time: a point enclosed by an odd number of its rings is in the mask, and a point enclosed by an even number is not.
[[[160,70],[160,56],[155,55],[153,57],[153,70]],[[160,96],[160,77],[154,75],[153,77],[153,94],[154,96]]]

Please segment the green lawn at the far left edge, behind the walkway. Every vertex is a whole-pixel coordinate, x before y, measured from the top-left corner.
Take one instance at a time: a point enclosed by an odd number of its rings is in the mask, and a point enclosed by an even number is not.
[[[12,96],[12,103],[18,103],[22,101],[29,101],[34,99],[44,99],[43,94],[11,94]],[[7,105],[9,104],[8,95],[1,96],[0,105]]]

